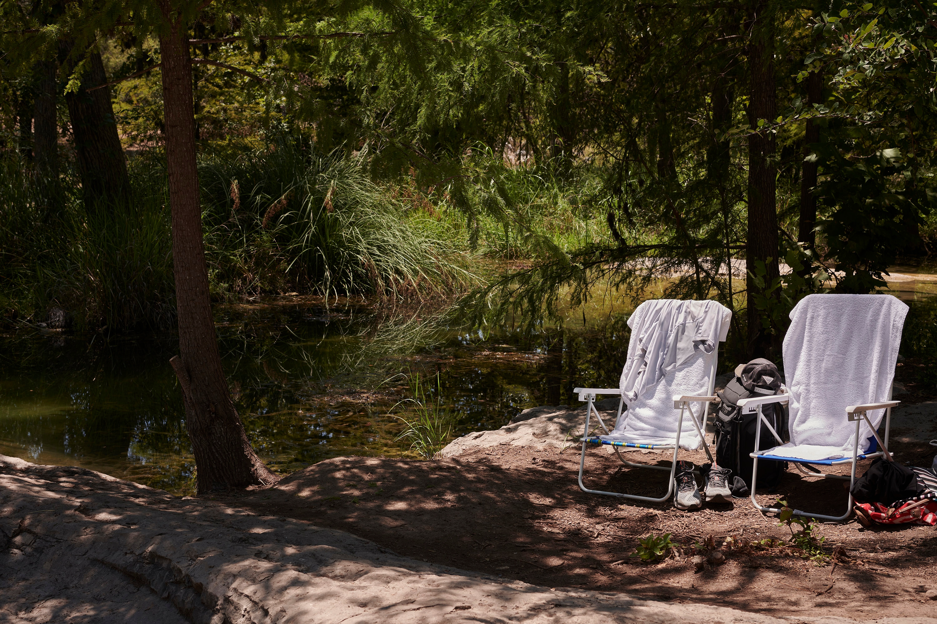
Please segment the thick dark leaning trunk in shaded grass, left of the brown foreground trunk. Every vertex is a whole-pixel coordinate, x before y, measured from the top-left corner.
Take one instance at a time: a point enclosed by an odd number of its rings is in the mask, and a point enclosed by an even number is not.
[[[73,44],[64,42],[67,55]],[[77,93],[67,93],[65,101],[71,130],[75,136],[78,173],[82,178],[82,197],[88,210],[101,203],[130,204],[130,178],[126,172],[124,148],[117,134],[117,122],[111,105],[111,88],[87,91],[108,81],[97,51],[89,54],[91,66],[82,77]],[[67,67],[68,73],[72,68]]]

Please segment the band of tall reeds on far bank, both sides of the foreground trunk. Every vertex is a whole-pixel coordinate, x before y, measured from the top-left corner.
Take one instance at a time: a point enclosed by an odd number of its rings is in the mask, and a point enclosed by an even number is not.
[[[0,158],[0,318],[37,324],[59,307],[79,328],[173,325],[163,154],[136,156],[130,173],[131,206],[89,208],[67,163],[58,180],[37,180],[17,154]],[[216,298],[297,291],[396,305],[476,281],[450,225],[371,181],[366,152],[322,154],[273,137],[202,155],[200,176]]]

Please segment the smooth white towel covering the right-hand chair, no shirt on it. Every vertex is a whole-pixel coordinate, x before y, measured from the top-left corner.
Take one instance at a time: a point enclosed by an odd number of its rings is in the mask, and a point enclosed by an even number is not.
[[[908,306],[891,295],[808,295],[791,311],[784,374],[791,395],[791,442],[760,455],[800,459],[853,456],[855,423],[846,407],[891,397]],[[870,412],[875,428],[885,410]],[[765,429],[762,429],[765,434]],[[873,440],[865,422],[859,453]]]

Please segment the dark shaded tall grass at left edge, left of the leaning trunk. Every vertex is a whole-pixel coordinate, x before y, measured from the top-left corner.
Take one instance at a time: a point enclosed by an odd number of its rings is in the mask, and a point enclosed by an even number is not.
[[[57,179],[0,161],[0,305],[38,324],[61,308],[78,328],[163,329],[175,313],[169,213],[163,196],[85,206],[65,163]]]

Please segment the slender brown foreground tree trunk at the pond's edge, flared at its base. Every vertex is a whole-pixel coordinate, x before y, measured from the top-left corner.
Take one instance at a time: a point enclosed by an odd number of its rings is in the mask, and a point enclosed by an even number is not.
[[[168,14],[164,10],[166,17]],[[171,364],[182,386],[186,430],[198,469],[198,490],[204,493],[269,484],[276,477],[247,441],[221,370],[201,238],[192,65],[186,35],[175,24],[170,32],[159,36],[172,208],[172,264],[179,318],[179,356],[173,357]]]

